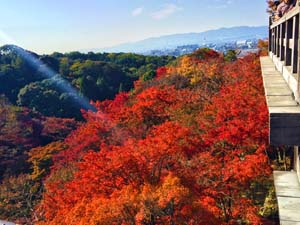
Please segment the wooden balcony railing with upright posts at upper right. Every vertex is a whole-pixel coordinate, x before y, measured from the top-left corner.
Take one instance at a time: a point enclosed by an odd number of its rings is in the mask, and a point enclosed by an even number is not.
[[[300,6],[297,3],[279,20],[272,22],[269,29],[269,52],[277,69],[281,72],[299,102]]]

